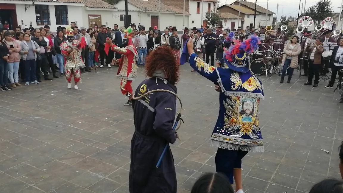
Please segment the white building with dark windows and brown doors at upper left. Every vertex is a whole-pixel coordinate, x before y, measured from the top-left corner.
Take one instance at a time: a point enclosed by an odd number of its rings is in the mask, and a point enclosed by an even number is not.
[[[111,18],[116,10],[102,0],[0,0],[0,8],[2,22],[8,21],[10,29],[18,25],[35,28],[49,25],[52,31],[71,22],[86,28],[95,24],[113,26]]]

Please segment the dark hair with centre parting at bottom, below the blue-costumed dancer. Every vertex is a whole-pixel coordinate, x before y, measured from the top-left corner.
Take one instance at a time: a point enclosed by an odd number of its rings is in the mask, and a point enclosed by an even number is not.
[[[191,193],[234,193],[224,174],[205,173],[193,185]]]

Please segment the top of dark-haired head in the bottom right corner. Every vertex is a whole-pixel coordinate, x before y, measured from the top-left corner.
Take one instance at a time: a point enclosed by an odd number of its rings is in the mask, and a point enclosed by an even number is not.
[[[313,185],[309,193],[342,193],[343,181],[336,179],[326,179]]]

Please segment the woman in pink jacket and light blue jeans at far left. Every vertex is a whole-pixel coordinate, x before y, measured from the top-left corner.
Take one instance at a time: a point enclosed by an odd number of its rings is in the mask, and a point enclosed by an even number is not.
[[[2,40],[3,43],[6,44],[10,56],[7,60],[8,63],[8,78],[10,79],[10,82],[12,84],[12,87],[22,86],[19,83],[19,76],[18,76],[18,70],[19,70],[19,52],[21,50],[20,45],[12,39],[12,34],[10,32],[6,32],[4,34],[5,38]]]

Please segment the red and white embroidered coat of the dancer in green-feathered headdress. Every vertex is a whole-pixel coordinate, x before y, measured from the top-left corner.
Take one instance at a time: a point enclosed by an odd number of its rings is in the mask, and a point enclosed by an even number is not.
[[[127,80],[134,80],[135,78],[137,78],[138,53],[133,44],[130,44],[125,48],[120,48],[116,45],[113,45],[111,49],[114,52],[121,54],[121,58],[119,59],[119,69],[117,72],[117,77]]]

